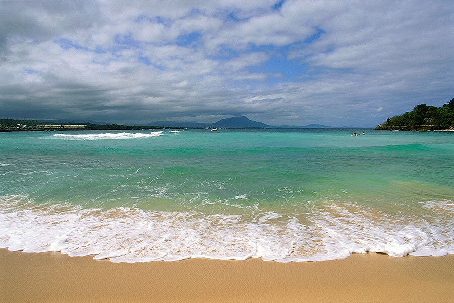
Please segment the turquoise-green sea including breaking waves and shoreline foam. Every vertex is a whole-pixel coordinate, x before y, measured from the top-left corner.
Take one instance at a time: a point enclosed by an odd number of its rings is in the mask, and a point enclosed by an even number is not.
[[[0,133],[0,178],[10,250],[115,262],[454,253],[452,132]]]

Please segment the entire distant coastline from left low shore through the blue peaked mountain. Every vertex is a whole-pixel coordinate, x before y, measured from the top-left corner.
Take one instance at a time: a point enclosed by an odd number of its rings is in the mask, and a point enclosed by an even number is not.
[[[69,122],[71,121],[71,122]],[[77,122],[77,120],[17,120],[0,119],[0,131],[43,131],[43,130],[138,130],[165,128],[332,128],[321,124],[295,125],[268,125],[250,120],[246,116],[230,117],[215,123],[155,121],[145,125],[119,125],[102,122]],[[94,123],[92,123],[94,122]],[[96,124],[95,124],[96,123]]]

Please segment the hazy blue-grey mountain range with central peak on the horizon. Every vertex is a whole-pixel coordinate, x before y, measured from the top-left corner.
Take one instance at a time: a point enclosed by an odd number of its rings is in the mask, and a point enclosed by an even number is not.
[[[145,126],[165,126],[165,127],[261,127],[261,128],[332,128],[321,124],[308,124],[306,126],[297,125],[268,125],[263,122],[250,120],[246,116],[236,116],[219,120],[215,123],[198,123],[194,121],[155,121],[144,124]]]

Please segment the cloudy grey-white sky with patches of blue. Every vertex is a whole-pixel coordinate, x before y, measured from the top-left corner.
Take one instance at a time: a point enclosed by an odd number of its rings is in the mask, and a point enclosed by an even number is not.
[[[0,118],[372,127],[454,97],[454,2],[0,1]]]

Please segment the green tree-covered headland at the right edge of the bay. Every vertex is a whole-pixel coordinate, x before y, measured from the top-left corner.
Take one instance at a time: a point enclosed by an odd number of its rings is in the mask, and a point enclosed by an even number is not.
[[[441,107],[419,104],[411,112],[388,118],[375,130],[454,130],[454,98]]]

